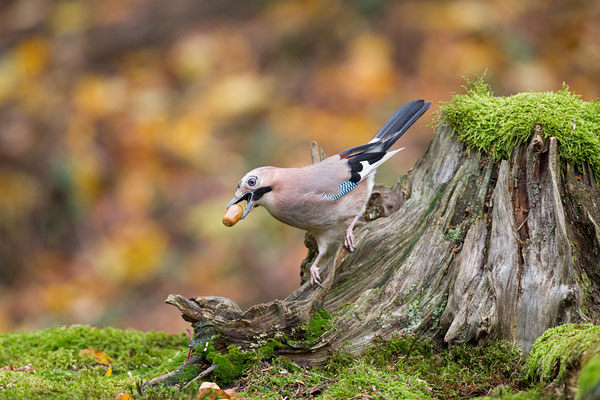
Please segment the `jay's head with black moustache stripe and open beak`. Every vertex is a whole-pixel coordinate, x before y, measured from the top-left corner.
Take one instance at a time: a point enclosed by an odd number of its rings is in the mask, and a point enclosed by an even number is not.
[[[273,167],[260,167],[244,175],[238,183],[235,195],[227,205],[227,208],[242,200],[246,200],[246,209],[242,214],[242,218],[240,218],[244,219],[252,208],[264,204],[266,197],[270,195],[269,192],[273,190],[275,169]]]

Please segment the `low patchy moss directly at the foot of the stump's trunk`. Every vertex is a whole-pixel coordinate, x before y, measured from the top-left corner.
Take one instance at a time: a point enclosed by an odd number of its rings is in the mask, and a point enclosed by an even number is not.
[[[335,353],[320,368],[278,358],[257,363],[243,379],[240,397],[466,398],[485,395],[498,385],[516,393],[523,384],[523,364],[523,353],[504,342],[444,349],[432,339],[397,336],[359,356]]]

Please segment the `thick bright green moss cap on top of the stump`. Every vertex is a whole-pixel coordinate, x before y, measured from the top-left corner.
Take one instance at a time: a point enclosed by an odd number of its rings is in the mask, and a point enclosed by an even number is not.
[[[483,77],[467,80],[466,94],[442,103],[440,122],[448,121],[468,147],[495,160],[508,159],[515,147],[542,128],[543,137],[560,142],[560,158],[576,166],[589,162],[600,179],[600,103],[585,102],[567,85],[556,93],[519,93],[495,97]]]

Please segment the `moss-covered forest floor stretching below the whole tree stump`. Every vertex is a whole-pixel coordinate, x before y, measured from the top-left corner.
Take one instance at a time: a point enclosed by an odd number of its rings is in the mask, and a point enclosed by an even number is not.
[[[143,382],[183,364],[187,344],[185,335],[87,326],[0,335],[0,367],[34,369],[0,370],[0,398],[114,399],[129,393],[134,399],[195,399],[200,382],[185,390],[139,392]],[[110,356],[110,374],[106,360],[90,358],[83,349]],[[504,342],[446,348],[427,338],[398,336],[359,356],[336,353],[320,367],[272,353],[241,353],[247,369],[239,378],[215,371],[207,380],[228,382],[243,399],[551,399],[563,398],[564,390],[585,399],[599,390],[599,349],[600,327],[592,325],[549,330],[529,356]]]

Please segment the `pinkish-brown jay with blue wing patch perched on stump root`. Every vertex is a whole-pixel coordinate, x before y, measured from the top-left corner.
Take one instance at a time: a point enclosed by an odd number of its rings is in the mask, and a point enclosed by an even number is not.
[[[277,220],[310,233],[318,247],[310,281],[321,286],[319,261],[342,234],[345,247],[354,251],[352,231],[366,209],[377,167],[403,150],[388,151],[430,106],[431,102],[424,100],[404,104],[368,143],[318,163],[301,168],[255,168],[240,179],[227,207],[246,200],[240,219],[263,206]]]

